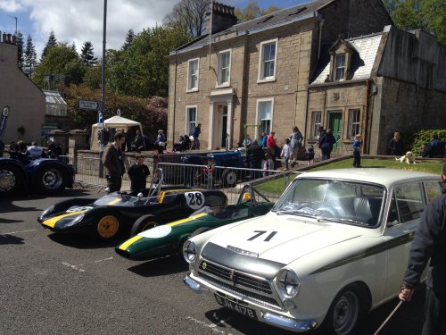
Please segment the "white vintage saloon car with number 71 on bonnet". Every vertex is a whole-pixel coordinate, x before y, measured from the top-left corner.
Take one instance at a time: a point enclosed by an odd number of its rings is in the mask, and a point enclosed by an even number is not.
[[[353,334],[396,297],[437,176],[390,169],[306,172],[271,212],[188,239],[184,282],[289,331]]]

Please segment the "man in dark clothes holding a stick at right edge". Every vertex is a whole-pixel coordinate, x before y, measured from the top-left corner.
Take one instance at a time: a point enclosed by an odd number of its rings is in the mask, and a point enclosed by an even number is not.
[[[426,264],[425,324],[423,335],[446,334],[446,163],[442,167],[442,196],[425,207],[410,247],[400,299],[410,301]]]

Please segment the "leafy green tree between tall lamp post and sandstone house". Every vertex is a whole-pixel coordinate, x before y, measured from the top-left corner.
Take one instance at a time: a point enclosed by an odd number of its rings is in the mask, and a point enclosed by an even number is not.
[[[158,26],[144,29],[128,50],[112,55],[110,69],[107,68],[107,85],[120,95],[168,96],[167,56],[172,49],[188,41],[183,30]]]

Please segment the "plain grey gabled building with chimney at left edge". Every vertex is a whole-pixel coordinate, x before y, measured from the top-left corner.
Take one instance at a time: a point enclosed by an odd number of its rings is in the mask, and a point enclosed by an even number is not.
[[[17,66],[17,46],[11,34],[0,36],[0,110],[9,106],[4,143],[39,141],[45,123],[45,94]],[[24,134],[18,131],[23,128]]]

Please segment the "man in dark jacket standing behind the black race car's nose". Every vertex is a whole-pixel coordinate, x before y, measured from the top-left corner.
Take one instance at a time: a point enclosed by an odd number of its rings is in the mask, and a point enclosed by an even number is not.
[[[125,172],[122,145],[125,142],[126,136],[121,132],[117,132],[114,134],[114,142],[109,143],[103,149],[103,166],[106,169],[109,192],[119,191],[122,185],[122,175]]]

